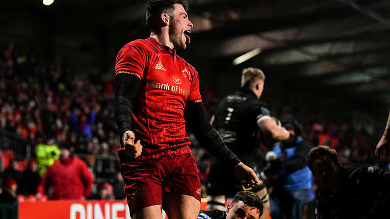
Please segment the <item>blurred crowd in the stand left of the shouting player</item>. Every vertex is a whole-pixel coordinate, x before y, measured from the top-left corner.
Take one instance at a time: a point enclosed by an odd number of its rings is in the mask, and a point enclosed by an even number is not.
[[[118,147],[113,77],[94,72],[89,78],[76,79],[66,67],[39,63],[34,55],[13,51],[13,46],[1,57],[0,66],[0,129],[37,145],[55,145],[57,152],[50,154],[56,154],[56,159],[58,146],[70,145],[71,152],[82,156],[95,178],[106,178],[96,184],[95,195],[97,188],[111,186],[112,191],[112,185],[104,183],[117,182],[118,173],[115,160],[114,165],[110,163]],[[26,182],[20,175],[22,171],[37,171],[30,167],[39,159],[27,161],[27,168],[26,161],[21,162],[12,148],[4,148],[2,157],[3,169],[12,172],[7,174],[15,178],[18,192],[35,194],[36,187],[23,189]],[[10,163],[14,158],[18,161]],[[123,199],[123,191],[116,198]]]

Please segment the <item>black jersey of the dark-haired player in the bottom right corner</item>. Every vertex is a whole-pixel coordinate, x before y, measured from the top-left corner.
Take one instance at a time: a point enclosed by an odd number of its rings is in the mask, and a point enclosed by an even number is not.
[[[341,166],[340,194],[320,188],[317,219],[389,218],[390,173],[372,166]]]

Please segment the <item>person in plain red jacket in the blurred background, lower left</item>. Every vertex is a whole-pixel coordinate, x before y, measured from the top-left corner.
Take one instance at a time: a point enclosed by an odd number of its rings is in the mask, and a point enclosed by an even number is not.
[[[60,147],[60,159],[46,171],[37,189],[39,199],[50,187],[53,187],[51,199],[83,200],[91,194],[92,172],[84,161],[71,154],[68,145]]]

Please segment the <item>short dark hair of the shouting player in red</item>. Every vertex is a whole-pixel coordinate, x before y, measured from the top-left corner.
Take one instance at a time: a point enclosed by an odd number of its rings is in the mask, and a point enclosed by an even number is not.
[[[167,13],[171,15],[174,8],[174,4],[181,4],[184,10],[188,11],[188,1],[187,0],[149,0],[146,3],[146,24],[149,29],[153,27],[153,21],[156,21],[161,13]]]

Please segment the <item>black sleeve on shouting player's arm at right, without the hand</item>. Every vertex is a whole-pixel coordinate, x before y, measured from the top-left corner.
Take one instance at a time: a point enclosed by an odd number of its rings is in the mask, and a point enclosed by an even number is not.
[[[212,156],[224,162],[232,169],[241,162],[229,150],[217,131],[208,122],[202,103],[188,105],[185,108],[185,117],[195,138]]]

